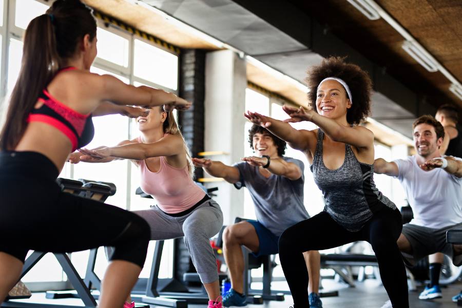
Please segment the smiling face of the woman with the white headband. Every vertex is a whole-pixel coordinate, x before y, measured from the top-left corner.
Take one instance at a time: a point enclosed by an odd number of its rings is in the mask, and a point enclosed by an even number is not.
[[[331,119],[347,116],[347,109],[351,102],[347,98],[347,91],[335,80],[326,80],[318,88],[316,95],[316,109],[319,114]]]

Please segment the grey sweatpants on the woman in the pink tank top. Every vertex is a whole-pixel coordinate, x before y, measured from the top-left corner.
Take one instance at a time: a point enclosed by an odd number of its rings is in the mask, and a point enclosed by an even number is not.
[[[196,267],[202,283],[218,280],[217,260],[210,246],[210,238],[220,232],[223,225],[223,214],[217,202],[207,200],[191,213],[181,217],[169,216],[157,205],[133,213],[148,222],[151,227],[151,240],[184,237],[192,264]]]

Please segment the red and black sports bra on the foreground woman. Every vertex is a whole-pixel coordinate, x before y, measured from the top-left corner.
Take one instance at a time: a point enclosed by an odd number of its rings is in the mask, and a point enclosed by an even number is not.
[[[58,73],[75,69],[68,67]],[[72,151],[89,144],[94,136],[94,126],[91,113],[82,114],[51,96],[46,89],[38,97],[43,102],[40,108],[33,109],[27,118],[27,122],[43,122],[54,126],[66,135],[72,143]]]

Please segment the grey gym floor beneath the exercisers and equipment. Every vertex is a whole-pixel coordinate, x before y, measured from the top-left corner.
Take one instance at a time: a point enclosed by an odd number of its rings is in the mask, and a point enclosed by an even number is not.
[[[356,287],[345,287],[344,284],[335,282],[329,283],[329,288],[340,288],[338,297],[322,298],[324,308],[380,308],[387,300],[388,296],[383,286],[373,279],[367,279],[365,282],[357,282]],[[328,288],[328,286],[326,286]],[[443,297],[432,301],[422,301],[418,295],[423,287],[418,287],[418,291],[409,293],[410,307],[418,308],[456,308],[457,305],[451,301],[451,297],[457,294],[462,288],[462,283],[452,284],[442,288]],[[27,300],[34,303],[58,304],[58,305],[75,305],[81,304],[77,299],[45,299],[44,293],[34,293],[32,298]],[[268,301],[263,305],[249,304],[248,308],[289,308],[292,306],[292,297],[286,296],[284,301]],[[30,306],[29,306],[30,307]],[[156,307],[151,305],[151,307]],[[161,307],[161,306],[157,306]],[[204,308],[205,305],[188,305],[190,308]]]

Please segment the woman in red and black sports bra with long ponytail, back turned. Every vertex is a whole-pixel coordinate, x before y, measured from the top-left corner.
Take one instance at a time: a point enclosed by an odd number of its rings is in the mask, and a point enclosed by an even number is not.
[[[18,281],[29,249],[69,253],[114,246],[101,308],[122,308],[144,264],[150,233],[144,219],[62,192],[55,179],[69,153],[93,138],[92,113],[112,113],[108,102],[166,110],[190,104],[90,73],[96,32],[91,10],[79,0],[55,1],[26,29],[21,71],[0,134],[0,303]]]

